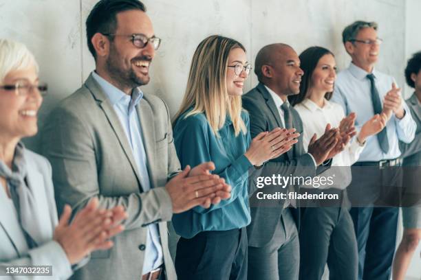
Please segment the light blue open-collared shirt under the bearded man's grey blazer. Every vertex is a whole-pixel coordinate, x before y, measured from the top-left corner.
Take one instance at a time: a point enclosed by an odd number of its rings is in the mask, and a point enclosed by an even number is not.
[[[142,189],[143,191],[149,191],[149,189],[151,189],[151,183],[147,170],[147,156],[142,141],[142,128],[140,127],[138,112],[136,111],[136,106],[139,104],[140,100],[142,100],[143,93],[139,88],[135,88],[130,96],[101,78],[97,73],[93,72],[92,76],[96,82],[100,84],[102,90],[109,98],[109,101],[118,115],[118,119],[120,119],[122,127],[125,129],[136,165],[138,165]],[[156,224],[149,224],[148,228],[142,274],[146,274],[163,264],[158,226]]]

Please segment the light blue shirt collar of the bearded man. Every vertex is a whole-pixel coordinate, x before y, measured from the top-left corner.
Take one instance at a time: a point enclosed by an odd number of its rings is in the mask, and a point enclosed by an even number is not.
[[[98,82],[102,91],[107,95],[109,101],[114,106],[116,104],[124,104],[126,106],[136,106],[143,98],[143,92],[139,87],[134,88],[131,91],[131,96],[117,89],[116,86],[110,84],[107,80],[98,75],[95,71],[92,71],[92,77]]]

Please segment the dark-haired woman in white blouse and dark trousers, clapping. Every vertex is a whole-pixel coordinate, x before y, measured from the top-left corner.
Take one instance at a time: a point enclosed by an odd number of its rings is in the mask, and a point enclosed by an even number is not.
[[[354,125],[356,115],[352,113],[345,117],[343,108],[329,101],[336,80],[336,63],[332,52],[323,47],[310,47],[299,58],[304,75],[300,93],[290,96],[290,103],[303,120],[303,145],[307,147],[314,134],[317,137],[323,135],[327,124],[343,131],[347,126]],[[356,237],[346,205],[345,189],[351,183],[350,166],[363,151],[365,139],[380,132],[386,122],[385,115],[375,115],[363,124],[343,152],[334,156],[330,170],[319,175],[325,178],[332,176],[333,184],[320,185],[317,189],[314,185],[303,186],[305,192],[338,194],[341,201],[333,207],[329,204],[321,207],[320,202],[310,202],[302,209],[300,279],[321,279],[326,263],[330,279],[357,279]]]

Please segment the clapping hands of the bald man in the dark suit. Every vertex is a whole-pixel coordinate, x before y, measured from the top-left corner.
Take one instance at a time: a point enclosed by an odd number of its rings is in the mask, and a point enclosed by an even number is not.
[[[338,143],[340,137],[339,130],[338,128],[330,128],[330,124],[327,124],[325,133],[317,140],[316,137],[317,135],[314,133],[308,145],[308,153],[313,156],[316,165],[321,165]]]

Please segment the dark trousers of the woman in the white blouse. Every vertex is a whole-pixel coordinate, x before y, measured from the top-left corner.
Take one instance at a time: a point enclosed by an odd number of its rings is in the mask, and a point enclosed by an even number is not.
[[[322,279],[326,263],[330,279],[357,279],[357,245],[347,208],[302,208],[299,240],[300,280]]]

